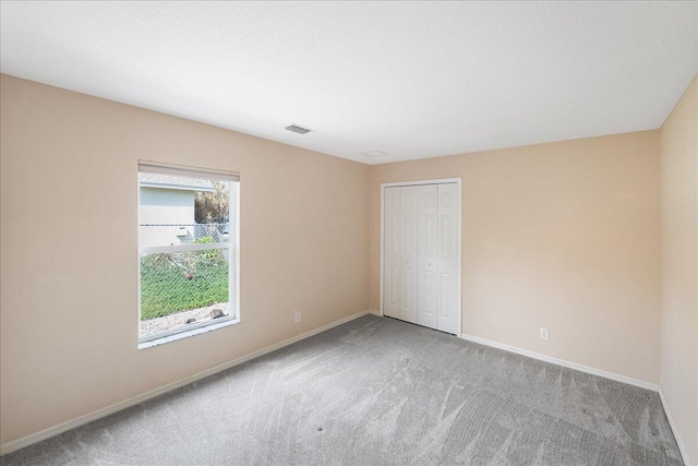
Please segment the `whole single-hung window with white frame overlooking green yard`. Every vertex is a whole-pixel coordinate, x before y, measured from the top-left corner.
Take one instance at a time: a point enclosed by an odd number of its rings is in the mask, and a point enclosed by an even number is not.
[[[139,346],[239,321],[238,174],[139,164]]]

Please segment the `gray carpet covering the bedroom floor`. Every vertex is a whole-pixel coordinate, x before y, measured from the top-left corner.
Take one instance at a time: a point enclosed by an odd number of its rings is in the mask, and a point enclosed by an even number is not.
[[[0,464],[682,462],[655,393],[366,315]]]

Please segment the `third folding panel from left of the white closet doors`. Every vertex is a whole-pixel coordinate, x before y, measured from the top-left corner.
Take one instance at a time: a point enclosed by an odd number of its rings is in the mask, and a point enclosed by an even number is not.
[[[423,184],[418,188],[419,307],[417,323],[431,328],[436,328],[437,191],[437,184]]]

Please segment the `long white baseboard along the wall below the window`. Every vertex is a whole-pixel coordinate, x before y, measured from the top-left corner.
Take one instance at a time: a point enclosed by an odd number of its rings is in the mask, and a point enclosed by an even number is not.
[[[284,348],[285,346],[292,345],[293,343],[298,343],[313,335],[317,335],[318,333],[325,332],[326,330],[353,321],[354,319],[359,319],[360,316],[363,316],[370,312],[371,312],[370,310],[358,312],[356,314],[349,315],[348,318],[338,320],[337,322],[333,322],[330,324],[323,325],[318,328],[312,330],[310,332],[305,332],[292,338],[285,339],[284,342],[277,343],[272,346],[267,346],[266,348],[262,348],[254,353],[250,353],[249,355],[241,356],[239,358],[236,358],[228,362],[224,362],[222,365],[216,366],[214,368],[206,369],[205,371],[195,373],[194,375],[190,375],[182,380],[178,380],[177,382],[168,383],[167,385],[160,386],[159,389],[152,390],[149,392],[143,393],[141,395],[136,395],[129,399],[124,399],[123,402],[119,402],[111,406],[107,406],[105,408],[97,409],[96,411],[80,416],[75,419],[59,423],[53,427],[49,427],[48,429],[40,430],[36,433],[32,433],[21,439],[13,440],[12,442],[8,442],[4,445],[0,445],[0,456],[24,449],[25,446],[29,446],[34,443],[38,443],[43,440],[58,435],[59,433],[68,432],[71,429],[75,429],[76,427],[86,425],[87,422],[92,422],[94,420],[109,416],[122,409],[130,408],[131,406],[135,406],[139,403],[143,403],[147,399],[155,398],[156,396],[160,396],[167,392],[171,392],[174,389],[179,389],[180,386],[184,386],[192,382],[196,382],[197,380],[205,379],[220,371],[225,371],[226,369],[230,369],[234,366],[241,365],[243,362],[248,362],[254,358],[258,358],[260,356],[264,356],[268,353],[276,351],[277,349]]]

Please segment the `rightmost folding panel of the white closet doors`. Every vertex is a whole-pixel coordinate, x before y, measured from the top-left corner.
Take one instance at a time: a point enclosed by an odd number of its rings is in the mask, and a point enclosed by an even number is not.
[[[459,334],[458,312],[458,186],[438,184],[437,189],[437,264],[436,264],[436,328],[442,332]]]

